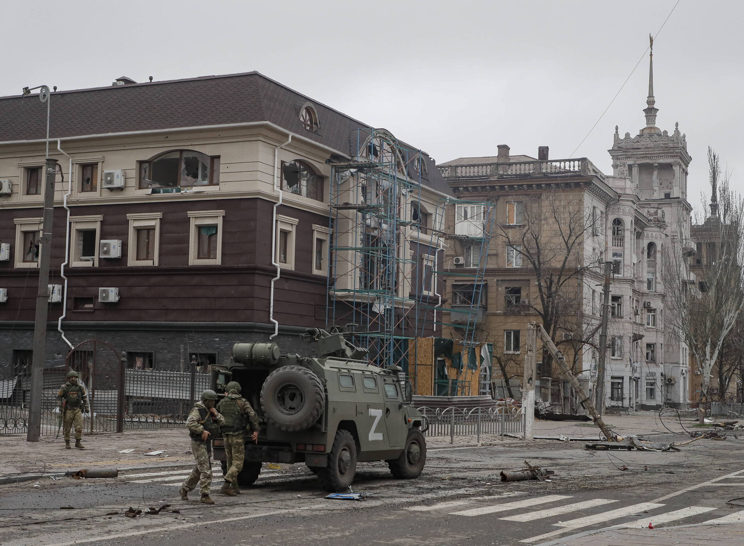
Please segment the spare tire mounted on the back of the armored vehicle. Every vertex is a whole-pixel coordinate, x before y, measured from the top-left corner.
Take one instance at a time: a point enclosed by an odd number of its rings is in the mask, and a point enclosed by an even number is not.
[[[266,420],[283,431],[310,428],[323,414],[324,405],[323,383],[307,367],[282,366],[269,373],[261,388]]]

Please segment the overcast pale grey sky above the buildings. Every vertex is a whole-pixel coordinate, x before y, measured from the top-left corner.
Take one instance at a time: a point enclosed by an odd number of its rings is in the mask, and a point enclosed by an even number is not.
[[[439,162],[497,144],[567,158],[675,3],[6,1],[0,94],[257,70]],[[655,42],[657,125],[687,134],[693,205],[709,145],[744,176],[743,15],[741,0],[681,0]],[[612,173],[615,125],[644,126],[647,77],[644,60],[573,157]]]

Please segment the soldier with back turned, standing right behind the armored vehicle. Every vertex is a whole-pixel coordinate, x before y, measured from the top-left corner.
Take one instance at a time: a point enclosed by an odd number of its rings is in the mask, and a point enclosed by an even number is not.
[[[245,433],[251,435],[251,440],[258,440],[258,419],[251,404],[240,396],[240,383],[231,381],[225,386],[225,398],[219,401],[217,410],[225,417],[222,426],[222,437],[225,440],[225,455],[228,458],[228,471],[225,473],[225,484],[219,489],[224,495],[233,497],[240,495],[237,475],[243,470],[246,457]]]

